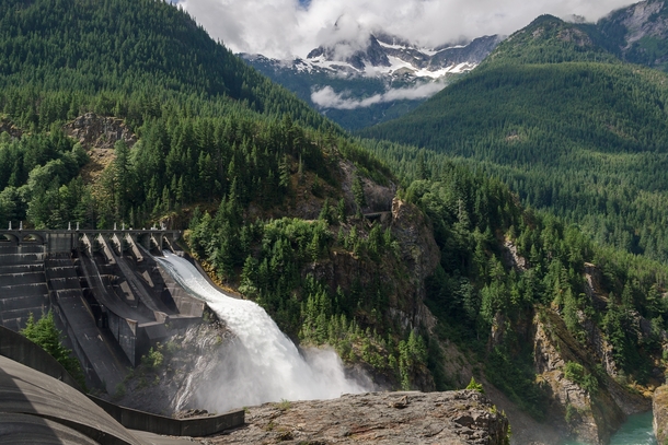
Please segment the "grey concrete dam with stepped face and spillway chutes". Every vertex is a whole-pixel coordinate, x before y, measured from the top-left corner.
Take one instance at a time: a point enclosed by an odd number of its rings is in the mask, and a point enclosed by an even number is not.
[[[199,323],[189,296],[151,254],[174,249],[166,230],[0,231],[0,325],[19,331],[53,311],[89,385],[110,394],[172,328]]]

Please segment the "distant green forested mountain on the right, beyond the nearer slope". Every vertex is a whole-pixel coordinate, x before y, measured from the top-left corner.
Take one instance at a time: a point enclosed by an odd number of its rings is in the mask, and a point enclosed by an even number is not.
[[[539,17],[454,87],[361,134],[458,157],[597,242],[666,261],[668,79],[597,33]]]

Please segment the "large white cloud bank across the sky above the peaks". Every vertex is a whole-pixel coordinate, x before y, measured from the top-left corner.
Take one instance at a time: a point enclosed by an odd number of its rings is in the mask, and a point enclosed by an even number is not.
[[[541,14],[596,21],[633,0],[180,0],[215,38],[235,52],[288,59],[320,45],[366,42],[383,30],[437,46],[510,34]],[[302,2],[303,3],[303,2]],[[362,33],[360,33],[362,31]]]

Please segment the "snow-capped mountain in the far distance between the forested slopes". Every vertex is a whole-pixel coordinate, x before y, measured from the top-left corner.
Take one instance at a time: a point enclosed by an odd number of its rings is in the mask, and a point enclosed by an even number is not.
[[[341,42],[295,60],[241,57],[342,126],[357,129],[415,108],[475,68],[500,40],[494,35],[426,48],[375,33],[365,45]]]

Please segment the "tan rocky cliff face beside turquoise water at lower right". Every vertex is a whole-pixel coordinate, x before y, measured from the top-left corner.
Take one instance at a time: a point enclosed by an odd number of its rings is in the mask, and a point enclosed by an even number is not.
[[[517,272],[528,266],[528,261],[517,254],[514,244],[507,239],[504,242],[503,259],[506,267],[514,268]],[[585,264],[583,281],[585,293],[581,297],[589,298],[591,307],[604,314],[609,295],[603,291],[600,269],[592,264]],[[500,341],[505,331],[510,329],[521,336],[523,341],[533,344],[533,366],[538,382],[546,389],[550,400],[546,423],[553,426],[558,435],[575,437],[589,444],[607,444],[626,415],[650,409],[649,399],[635,387],[631,388],[624,383],[623,373],[613,358],[612,346],[590,316],[583,311],[577,313],[577,336],[566,327],[557,305],[533,309],[532,318],[530,326],[520,321],[510,327],[493,327],[491,343]],[[642,317],[637,315],[635,318],[637,332],[643,332]],[[494,326],[505,325],[505,319],[497,319]],[[498,395],[492,397],[506,409],[512,421],[516,415],[512,407],[504,403],[503,397]],[[526,423],[521,415],[517,418],[521,423]],[[522,426],[519,426],[518,431],[521,431],[522,435],[526,433]],[[545,438],[532,437],[531,441],[518,443],[558,442],[552,431],[545,433],[542,434]]]

